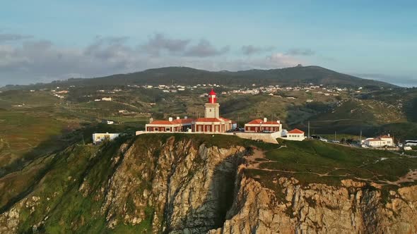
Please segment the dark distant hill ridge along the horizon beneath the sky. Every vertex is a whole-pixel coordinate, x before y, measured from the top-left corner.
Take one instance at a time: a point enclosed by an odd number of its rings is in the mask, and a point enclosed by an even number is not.
[[[376,80],[366,80],[337,73],[319,66],[297,66],[271,70],[242,70],[237,72],[198,70],[187,67],[167,67],[137,73],[110,75],[102,78],[69,79],[63,82],[29,86],[6,86],[3,90],[35,89],[60,86],[119,86],[119,85],[336,85],[341,87],[397,87]]]

